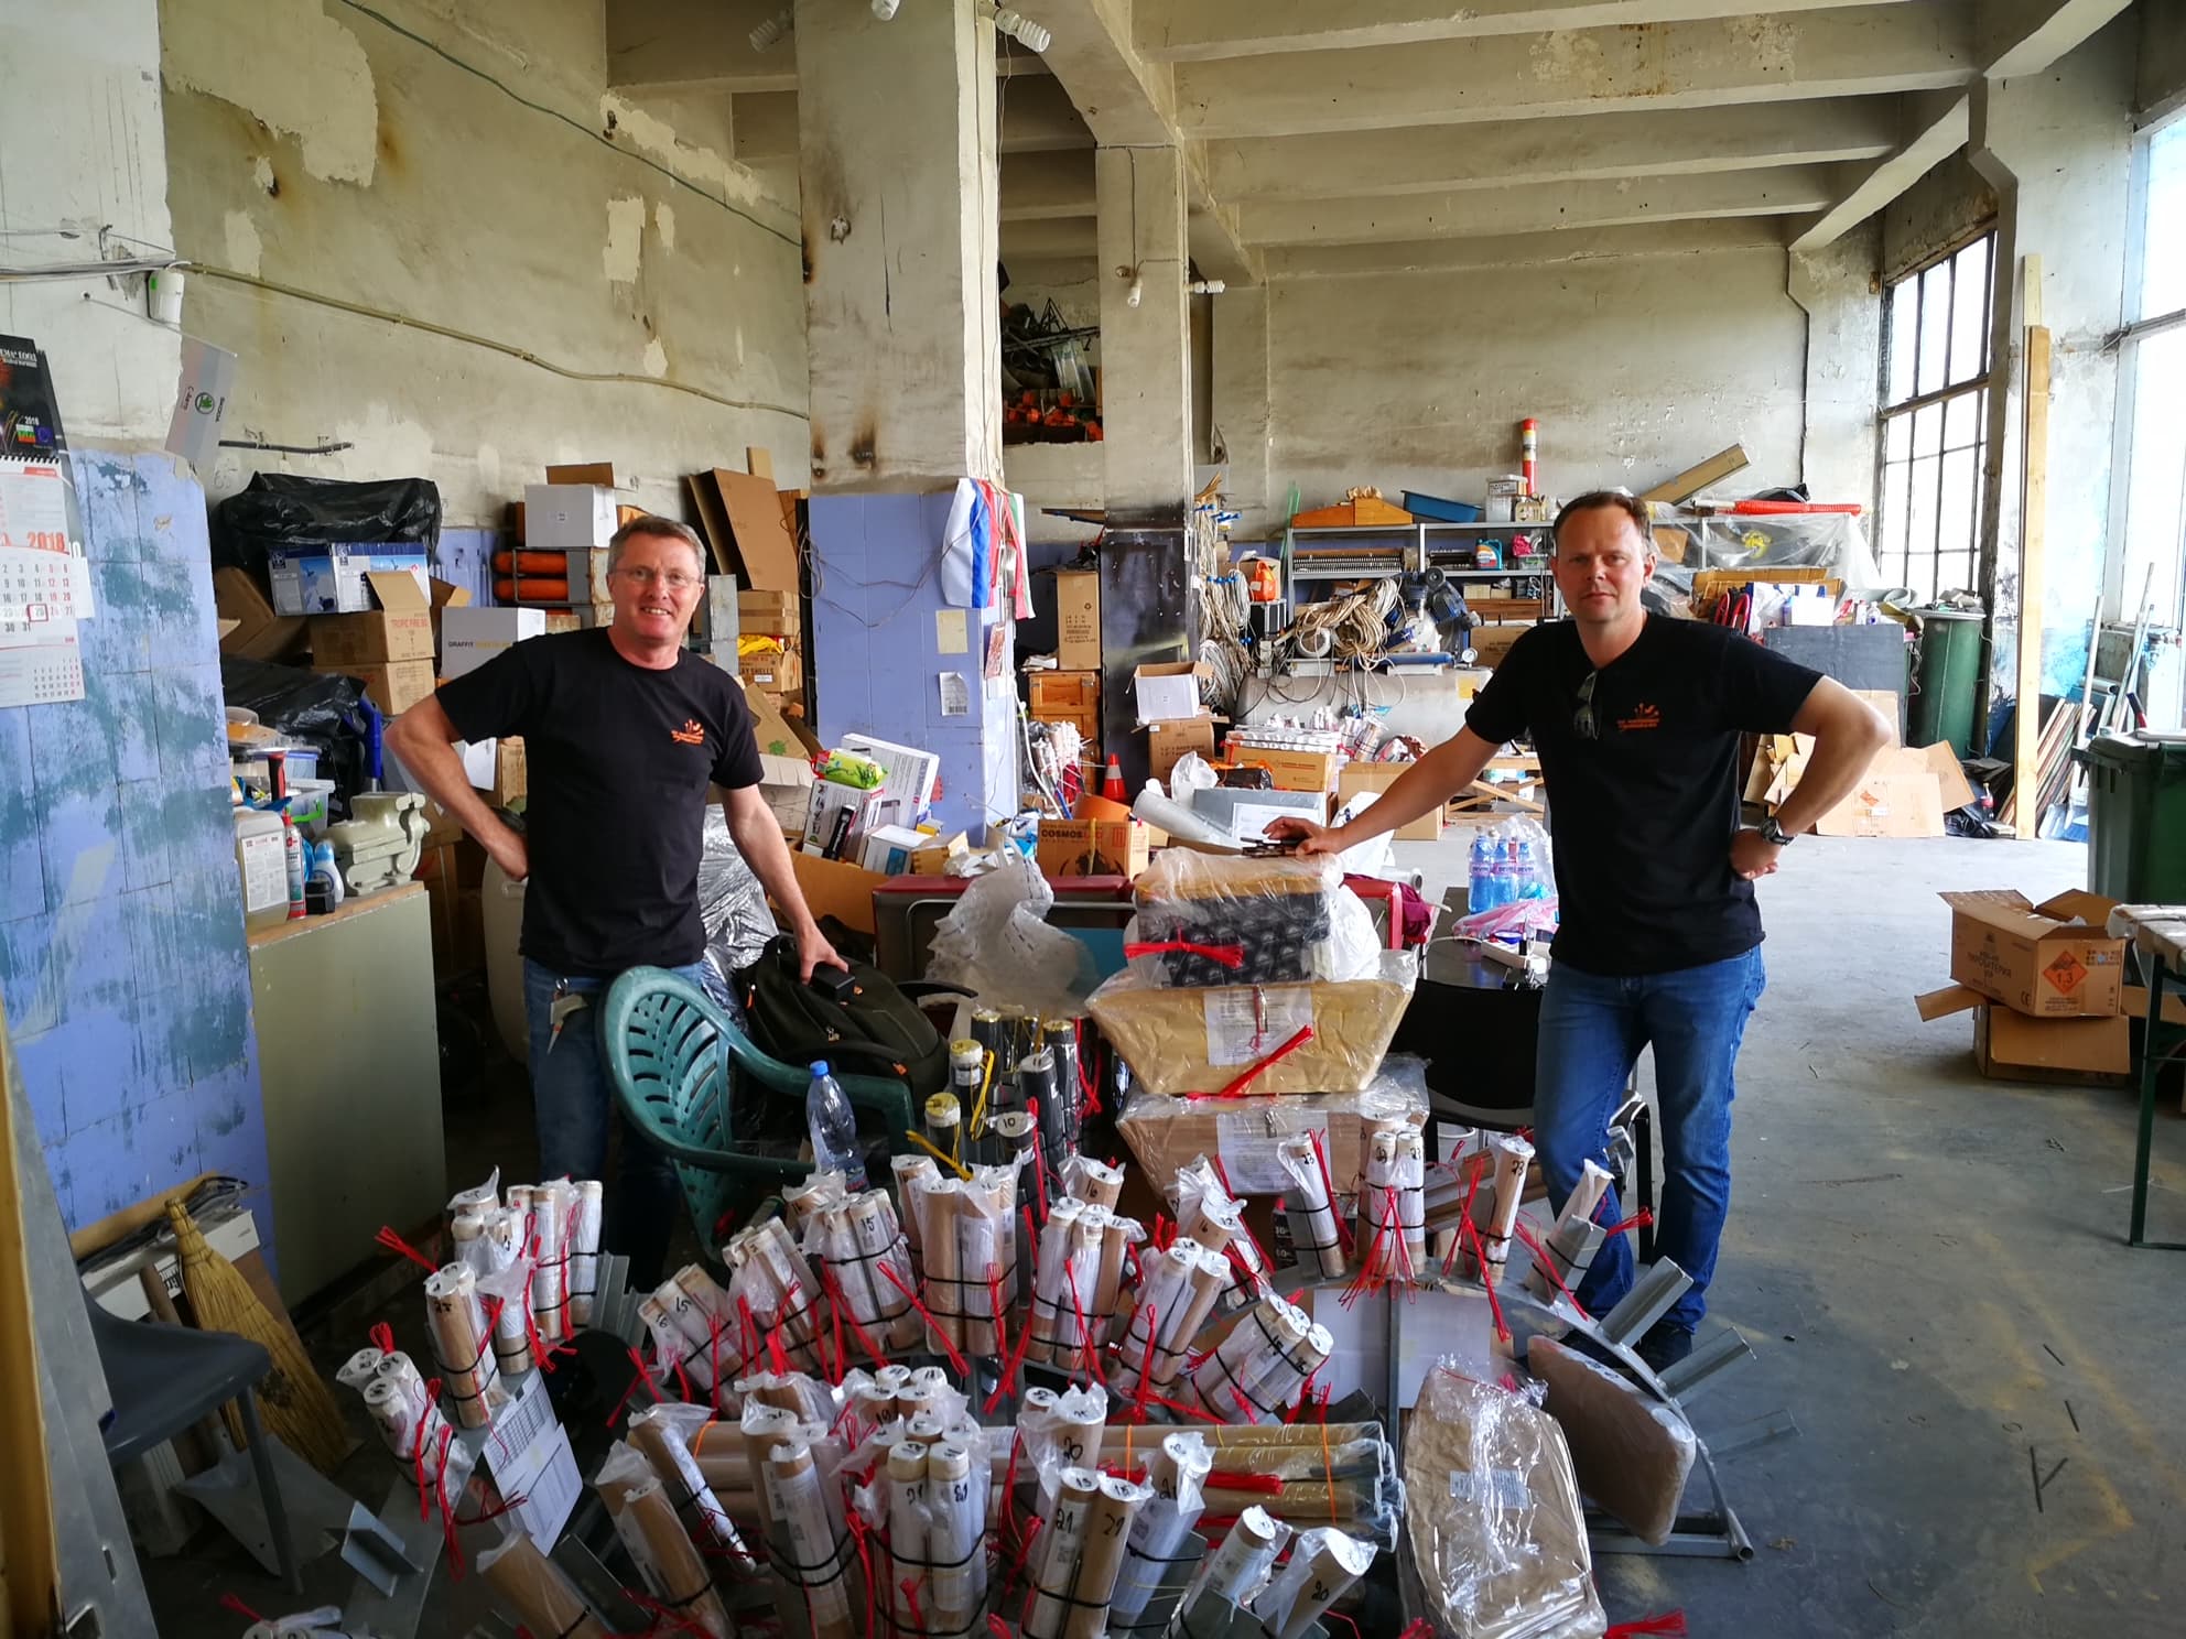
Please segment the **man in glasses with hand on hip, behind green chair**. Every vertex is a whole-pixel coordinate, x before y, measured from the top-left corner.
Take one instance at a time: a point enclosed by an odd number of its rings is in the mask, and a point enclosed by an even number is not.
[[[623,524],[608,542],[608,583],[612,625],[512,642],[387,730],[433,800],[512,879],[529,879],[525,1023],[540,1178],[599,1178],[606,1169],[614,1088],[590,1001],[636,966],[706,986],[697,868],[710,785],[728,793],[728,835],[783,909],[804,977],[818,964],[844,966],[804,905],[783,828],[759,795],[743,686],[684,649],[706,592],[697,535],[671,518]],[[525,741],[531,791],[522,833],[470,789],[453,745],[501,734]],[[673,1165],[625,1123],[606,1243],[630,1257],[634,1289],[660,1281],[680,1208]]]

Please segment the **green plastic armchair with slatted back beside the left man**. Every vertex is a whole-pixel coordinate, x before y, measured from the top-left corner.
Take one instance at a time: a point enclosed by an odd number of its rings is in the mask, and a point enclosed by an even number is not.
[[[599,1040],[623,1115],[675,1163],[708,1257],[719,1257],[719,1230],[730,1215],[811,1174],[794,1156],[737,1149],[732,1121],[739,1077],[802,1108],[811,1071],[761,1053],[697,986],[667,968],[630,968],[608,986]],[[909,1088],[877,1075],[835,1080],[857,1110],[881,1121],[888,1152],[896,1154],[914,1130]]]

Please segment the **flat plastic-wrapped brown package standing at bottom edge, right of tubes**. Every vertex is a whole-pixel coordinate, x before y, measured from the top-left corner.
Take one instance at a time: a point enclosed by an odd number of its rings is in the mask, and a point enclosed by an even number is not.
[[[1427,1372],[1403,1447],[1406,1615],[1454,1639],[1600,1639],[1563,1429],[1526,1394]]]

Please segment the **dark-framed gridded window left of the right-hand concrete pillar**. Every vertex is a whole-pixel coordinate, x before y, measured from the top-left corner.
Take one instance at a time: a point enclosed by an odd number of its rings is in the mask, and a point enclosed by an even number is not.
[[[1989,258],[1976,238],[1882,293],[1878,568],[1921,599],[1974,588],[1989,424]]]

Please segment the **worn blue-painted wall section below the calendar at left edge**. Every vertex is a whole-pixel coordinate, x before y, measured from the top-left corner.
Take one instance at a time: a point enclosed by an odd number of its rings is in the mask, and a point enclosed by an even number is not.
[[[85,697],[0,710],[0,999],[70,1228],[267,1182],[205,494],[164,455],[74,474]]]

